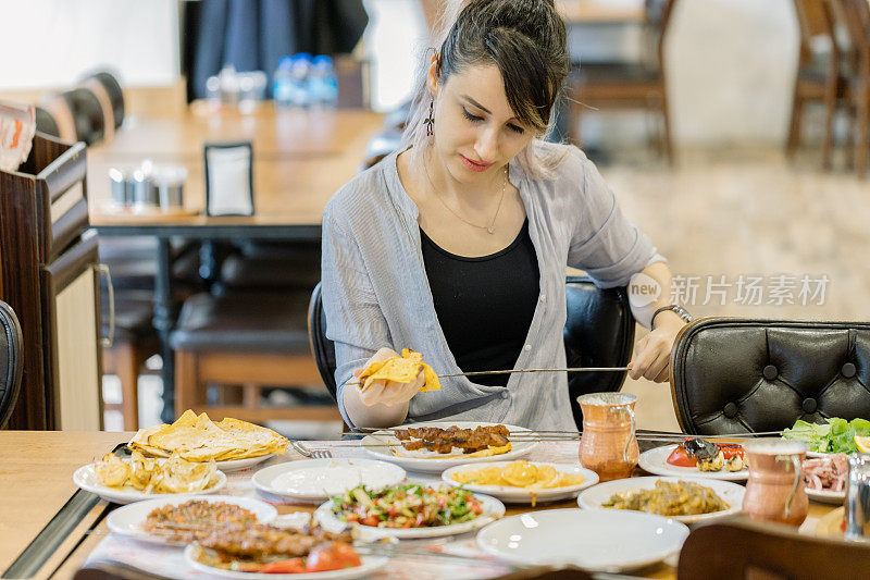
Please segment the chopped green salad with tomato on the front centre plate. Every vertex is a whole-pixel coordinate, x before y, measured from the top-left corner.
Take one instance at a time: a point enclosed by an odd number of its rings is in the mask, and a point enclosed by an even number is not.
[[[428,528],[477,518],[481,503],[461,488],[430,488],[417,483],[377,492],[355,488],[332,498],[333,513],[343,521],[375,528]]]

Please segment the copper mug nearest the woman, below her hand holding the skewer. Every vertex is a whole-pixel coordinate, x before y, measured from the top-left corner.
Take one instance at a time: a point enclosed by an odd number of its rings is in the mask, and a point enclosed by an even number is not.
[[[583,409],[580,462],[598,473],[599,481],[627,478],[637,465],[639,449],[634,435],[635,395],[589,393],[577,397]]]

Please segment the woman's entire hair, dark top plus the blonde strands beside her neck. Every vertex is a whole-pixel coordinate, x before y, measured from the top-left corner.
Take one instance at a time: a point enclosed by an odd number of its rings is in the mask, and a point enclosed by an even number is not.
[[[459,4],[452,9],[458,15],[450,18],[451,11],[446,11],[446,32],[436,50],[438,83],[470,65],[495,64],[517,119],[531,126],[536,137],[544,136],[570,67],[564,22],[552,0],[453,0],[452,4]],[[411,155],[417,160],[430,143],[424,127],[432,100],[425,83],[428,64],[427,58],[421,62],[400,144],[401,150],[413,147]],[[561,156],[540,150],[537,139],[532,139],[519,161],[532,174],[547,176]]]

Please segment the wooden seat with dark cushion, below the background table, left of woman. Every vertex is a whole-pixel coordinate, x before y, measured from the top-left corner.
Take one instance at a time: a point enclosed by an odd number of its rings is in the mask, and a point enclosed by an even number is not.
[[[188,298],[170,341],[175,349],[176,416],[194,409],[215,420],[340,421],[332,405],[260,405],[263,388],[321,384],[308,345],[308,292],[288,291]],[[210,384],[221,390],[216,404],[208,399]]]

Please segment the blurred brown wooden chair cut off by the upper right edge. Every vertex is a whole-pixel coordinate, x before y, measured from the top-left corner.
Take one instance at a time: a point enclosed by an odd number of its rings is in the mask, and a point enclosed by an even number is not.
[[[855,166],[859,176],[867,177],[870,153],[870,4],[867,0],[836,0],[836,5],[856,57],[849,90],[858,128]]]

